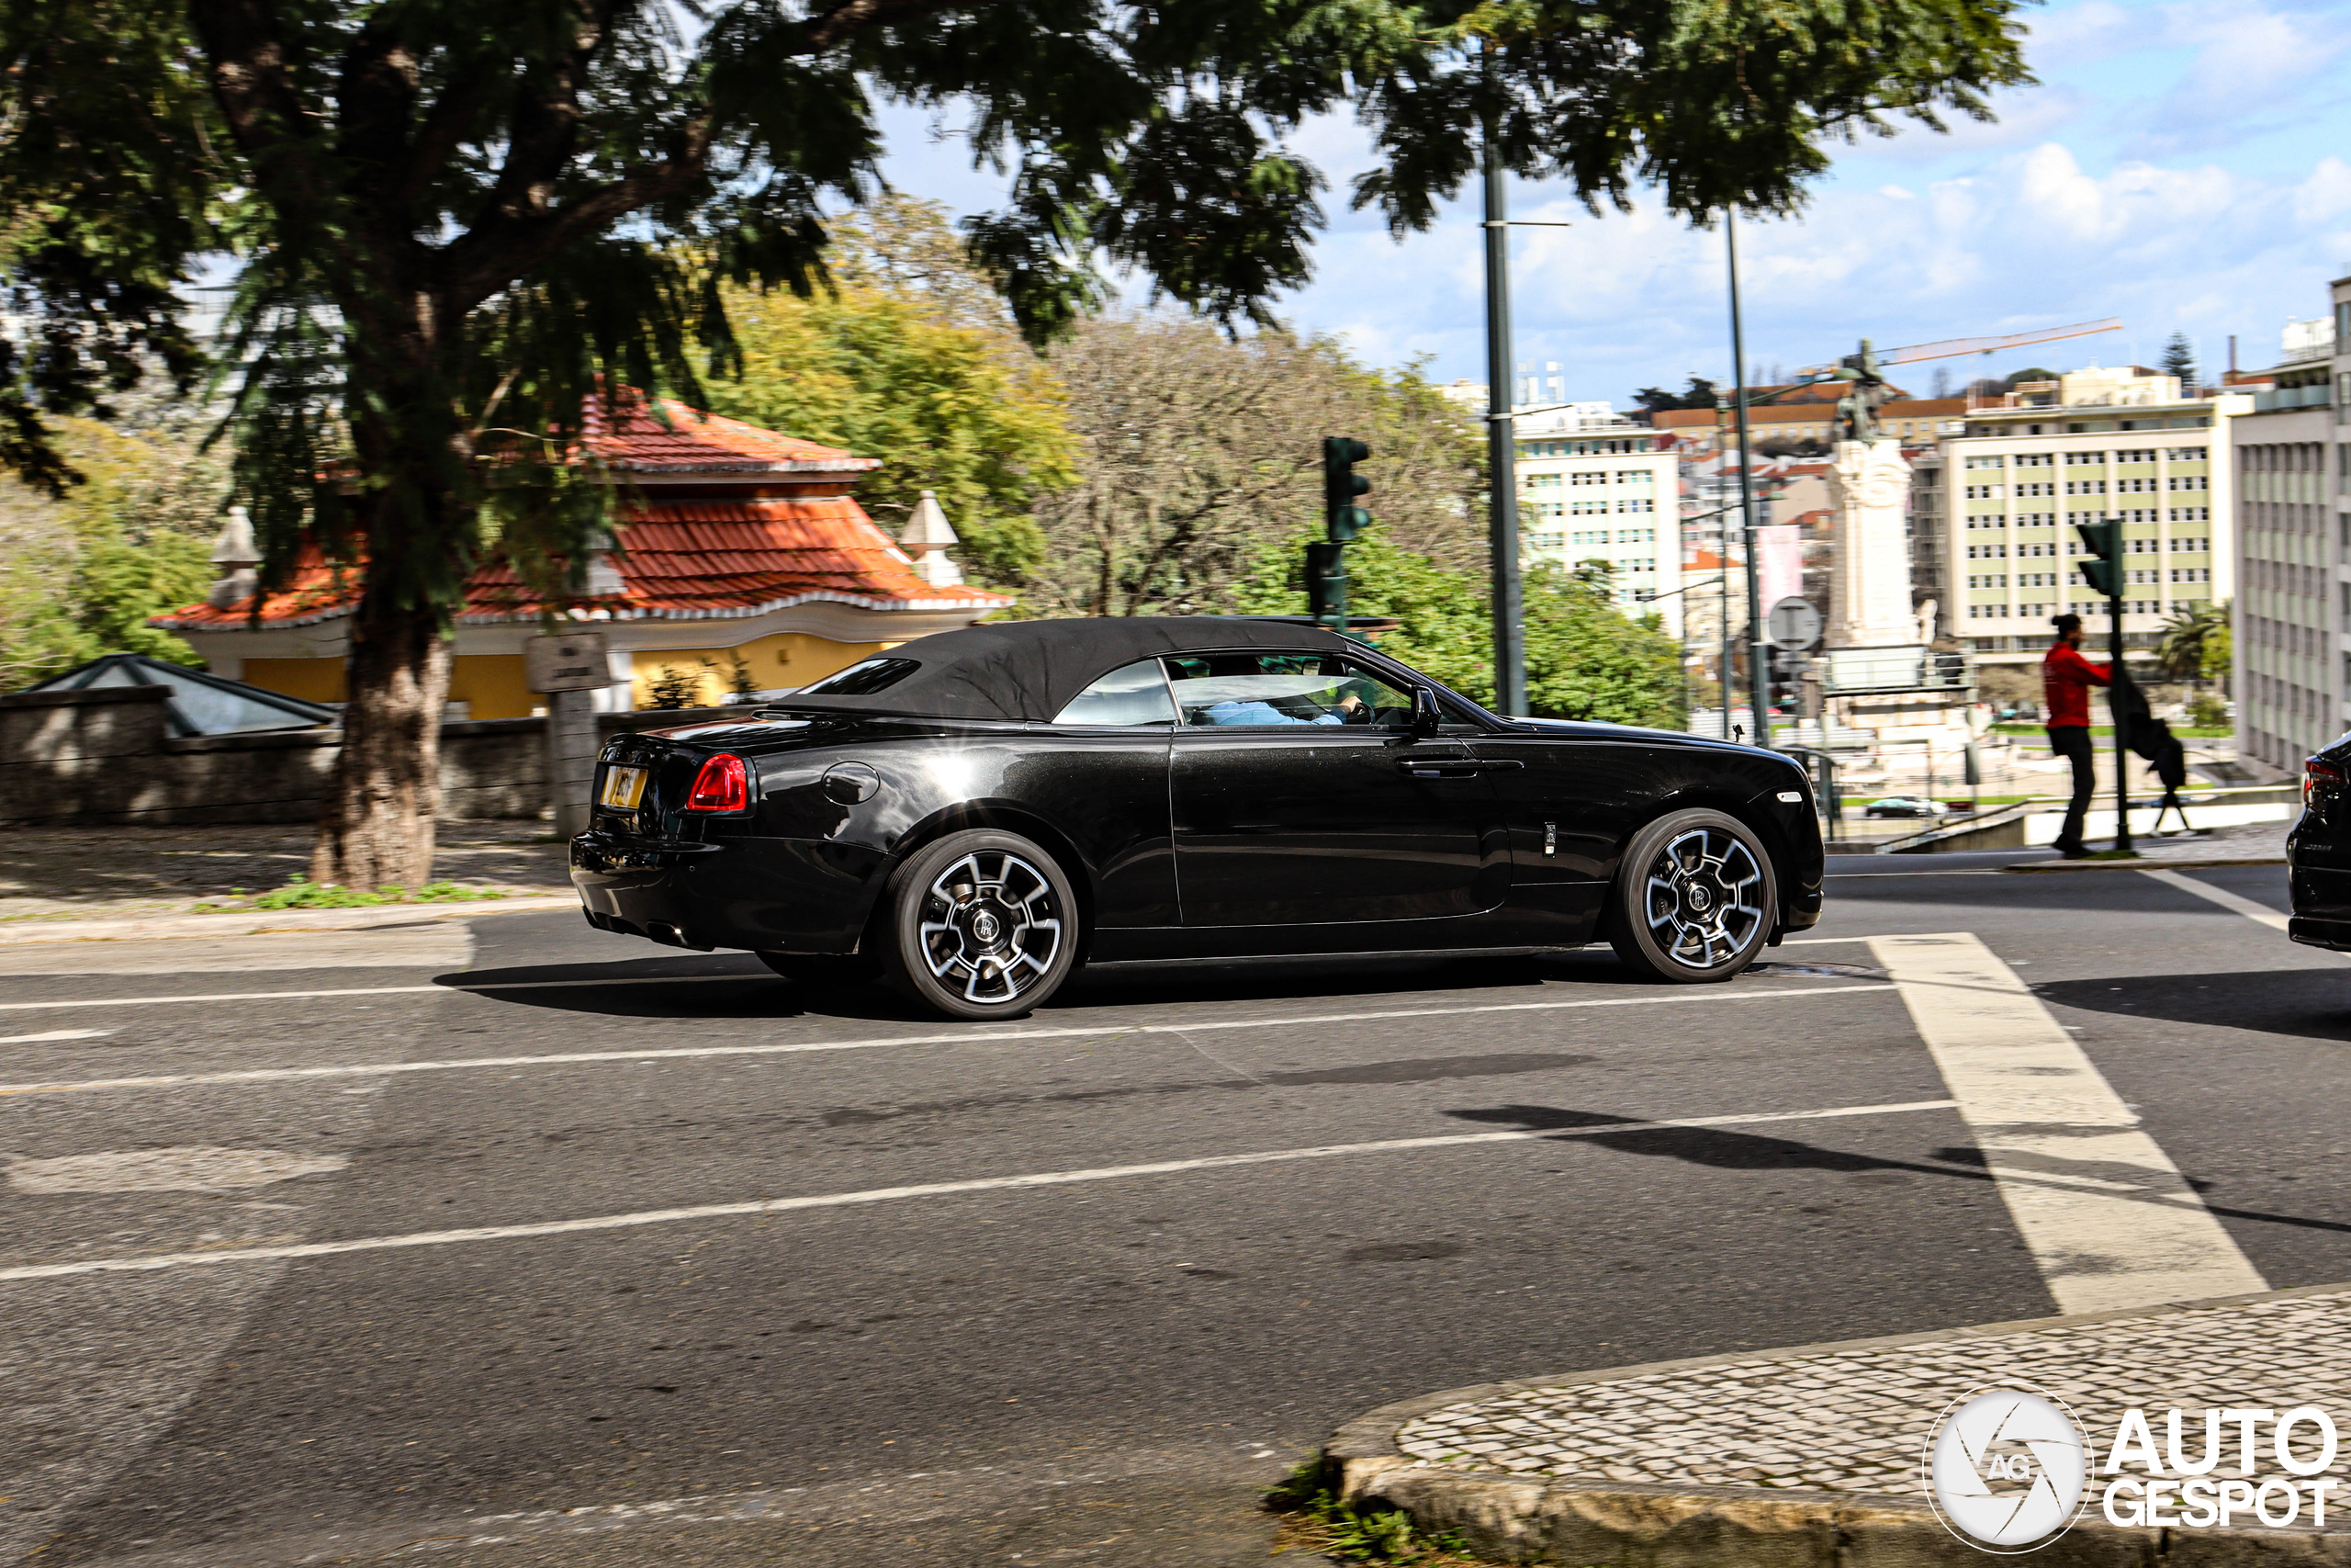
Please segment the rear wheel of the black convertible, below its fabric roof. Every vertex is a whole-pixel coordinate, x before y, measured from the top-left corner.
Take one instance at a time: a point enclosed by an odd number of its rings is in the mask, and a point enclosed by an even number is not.
[[[1077,966],[1077,893],[1016,832],[950,832],[891,875],[884,978],[945,1018],[1023,1018]]]

